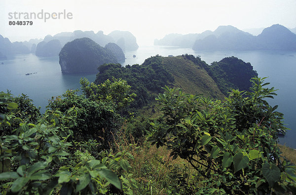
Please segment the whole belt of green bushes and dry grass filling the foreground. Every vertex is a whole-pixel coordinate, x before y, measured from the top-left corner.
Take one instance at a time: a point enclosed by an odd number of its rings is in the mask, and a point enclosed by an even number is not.
[[[283,114],[266,101],[276,94],[263,81],[253,79],[251,92],[233,90],[223,102],[165,88],[157,98],[163,116],[153,123],[139,117],[126,124],[120,117],[133,96],[122,80],[103,85],[81,80],[85,96],[68,91],[53,99],[37,122],[16,116],[23,109],[0,93],[0,130],[11,129],[0,137],[0,192],[296,192],[296,167],[277,145],[277,133],[285,130]],[[110,140],[112,149],[102,150],[107,146],[102,140]]]

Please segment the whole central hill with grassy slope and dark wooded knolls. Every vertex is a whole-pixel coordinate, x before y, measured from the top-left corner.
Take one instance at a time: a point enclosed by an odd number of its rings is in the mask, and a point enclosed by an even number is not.
[[[188,94],[222,99],[231,89],[247,90],[251,86],[250,79],[257,75],[250,63],[235,57],[207,65],[193,55],[156,55],[146,59],[142,65],[101,65],[95,83],[100,84],[113,77],[126,80],[132,92],[137,94],[132,107],[142,108],[153,102],[166,85]]]

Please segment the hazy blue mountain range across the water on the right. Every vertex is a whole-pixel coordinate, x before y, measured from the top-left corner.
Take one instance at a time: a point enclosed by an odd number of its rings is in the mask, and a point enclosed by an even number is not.
[[[292,29],[293,30],[293,29]],[[252,32],[252,31],[250,31]],[[257,31],[258,32],[258,31]],[[220,26],[214,32],[168,34],[154,45],[179,46],[193,50],[288,50],[296,51],[296,34],[276,24],[254,36],[233,26]]]

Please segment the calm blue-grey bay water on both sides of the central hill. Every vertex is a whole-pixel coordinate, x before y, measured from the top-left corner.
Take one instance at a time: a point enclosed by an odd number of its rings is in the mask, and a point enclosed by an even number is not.
[[[137,51],[126,52],[126,61],[122,65],[142,64],[150,56],[192,54],[200,56],[207,64],[235,56],[250,62],[260,77],[268,77],[269,87],[279,89],[274,99],[268,99],[271,105],[279,105],[278,111],[284,113],[284,123],[290,128],[281,144],[296,148],[296,52],[283,51],[246,51],[246,52],[194,52],[192,49],[147,46]],[[133,55],[136,55],[134,58]],[[1,64],[4,63],[4,64]],[[37,72],[37,73],[35,73]],[[26,75],[27,73],[32,73]],[[35,73],[35,74],[34,74]],[[62,74],[58,57],[37,57],[32,54],[9,56],[0,60],[0,91],[10,90],[14,96],[27,94],[35,105],[45,111],[48,99],[62,95],[68,89],[79,89],[79,79],[85,77],[94,81],[96,75]]]

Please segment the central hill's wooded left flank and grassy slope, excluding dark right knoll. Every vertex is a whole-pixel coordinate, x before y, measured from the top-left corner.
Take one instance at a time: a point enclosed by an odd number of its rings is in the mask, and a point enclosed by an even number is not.
[[[155,97],[163,92],[162,87],[165,85],[179,87],[186,93],[223,98],[224,95],[204,67],[208,68],[208,65],[192,55],[156,55],[146,59],[142,65],[101,65],[95,83],[100,84],[113,77],[126,80],[132,92],[137,94],[131,104],[133,108],[153,104]]]

